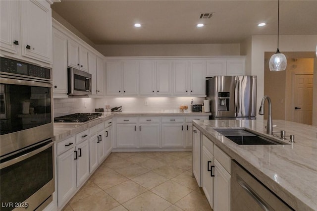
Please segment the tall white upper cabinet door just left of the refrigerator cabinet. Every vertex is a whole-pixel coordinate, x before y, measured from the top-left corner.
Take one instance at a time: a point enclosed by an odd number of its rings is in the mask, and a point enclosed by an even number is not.
[[[190,62],[190,94],[206,95],[206,60]]]

